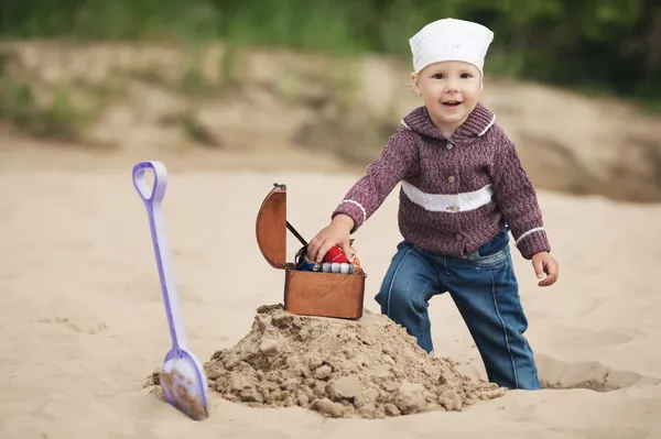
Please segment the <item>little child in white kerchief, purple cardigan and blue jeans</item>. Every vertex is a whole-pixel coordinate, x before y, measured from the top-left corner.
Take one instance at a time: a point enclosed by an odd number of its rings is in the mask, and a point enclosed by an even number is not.
[[[424,106],[411,111],[308,244],[321,261],[334,245],[350,260],[349,235],[399,191],[398,244],[375,299],[433,353],[429,300],[448,292],[485,363],[489,381],[540,388],[528,320],[512,270],[509,232],[532,260],[540,286],[557,279],[535,190],[514,145],[479,101],[494,33],[444,19],[410,40],[411,81]],[[544,274],[546,275],[544,278]]]

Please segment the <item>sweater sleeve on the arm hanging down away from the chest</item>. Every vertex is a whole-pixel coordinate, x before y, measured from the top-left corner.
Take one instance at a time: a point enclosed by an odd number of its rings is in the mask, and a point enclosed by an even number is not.
[[[551,251],[542,211],[513,142],[501,133],[499,143],[491,169],[494,194],[519,252],[530,260],[535,253]]]

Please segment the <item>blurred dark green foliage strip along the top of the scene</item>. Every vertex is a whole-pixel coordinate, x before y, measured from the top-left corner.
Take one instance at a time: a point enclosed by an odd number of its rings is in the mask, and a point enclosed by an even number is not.
[[[0,37],[203,41],[409,57],[455,17],[496,33],[486,73],[661,100],[659,0],[0,0]]]

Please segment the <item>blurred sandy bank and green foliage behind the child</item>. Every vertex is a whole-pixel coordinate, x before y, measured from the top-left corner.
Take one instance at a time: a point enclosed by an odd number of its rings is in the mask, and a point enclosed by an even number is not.
[[[661,200],[655,0],[0,0],[0,167],[360,173],[443,17],[495,31],[483,100],[539,187]]]

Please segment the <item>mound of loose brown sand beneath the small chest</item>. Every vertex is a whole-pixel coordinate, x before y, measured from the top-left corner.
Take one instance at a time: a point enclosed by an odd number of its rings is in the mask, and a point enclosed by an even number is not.
[[[252,406],[301,406],[328,417],[462,410],[505,388],[477,383],[432,358],[384,316],[359,321],[257,310],[252,329],[205,364],[212,391]]]

